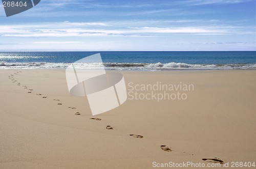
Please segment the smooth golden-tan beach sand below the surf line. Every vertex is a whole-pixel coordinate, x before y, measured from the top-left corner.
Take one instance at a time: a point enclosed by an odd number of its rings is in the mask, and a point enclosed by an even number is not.
[[[153,168],[153,162],[207,165],[218,161],[202,159],[215,158],[231,168],[232,161],[256,162],[255,70],[121,71],[128,99],[97,116],[86,97],[69,94],[65,70],[0,72],[0,168]],[[193,90],[179,91],[180,100],[132,99],[135,85],[157,82]]]

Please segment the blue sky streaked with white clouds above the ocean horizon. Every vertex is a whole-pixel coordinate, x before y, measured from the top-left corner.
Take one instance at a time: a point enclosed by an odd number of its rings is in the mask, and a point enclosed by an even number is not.
[[[256,50],[255,0],[41,0],[6,17],[0,51]]]

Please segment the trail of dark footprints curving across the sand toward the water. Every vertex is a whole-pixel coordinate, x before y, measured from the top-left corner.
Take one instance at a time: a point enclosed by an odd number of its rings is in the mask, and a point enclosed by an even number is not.
[[[16,73],[14,73],[14,75],[16,75],[16,74],[18,74],[18,73],[22,73],[22,71],[17,71]],[[17,80],[15,80],[15,78],[14,78],[14,75],[13,74],[11,74],[11,75],[9,75],[9,79],[11,79],[11,81],[13,82],[13,83],[17,83],[17,86],[20,86],[21,84],[19,83],[19,82],[17,82]],[[24,89],[28,89],[28,87],[27,86],[22,86],[22,87],[24,87]],[[28,93],[32,93],[32,91],[33,91],[33,89],[28,89]],[[36,94],[36,95],[38,95],[38,96],[42,96],[42,94]],[[47,99],[47,96],[43,96],[42,98],[44,98],[44,99]],[[53,99],[54,101],[60,101],[59,99]],[[62,105],[62,103],[57,103],[57,105]],[[76,109],[76,107],[68,107],[68,108],[70,108],[70,109]],[[76,112],[75,113],[75,115],[80,115],[80,112]],[[96,121],[101,121],[101,119],[99,119],[99,118],[90,118],[91,120],[96,120]],[[106,126],[106,129],[108,129],[108,130],[113,130],[114,128],[113,127],[111,127],[111,126]],[[143,136],[142,135],[137,135],[137,134],[130,134],[130,136],[131,137],[136,137],[136,138],[143,138]],[[160,146],[160,148],[163,150],[163,151],[166,151],[166,152],[171,152],[171,151],[173,151],[171,148],[169,148],[168,146],[166,146],[166,145],[161,145]],[[193,154],[192,154],[193,155]],[[220,164],[224,164],[225,162],[224,161],[222,161],[221,159],[219,159],[219,158],[203,158],[202,160],[204,160],[204,161],[208,161],[208,162],[215,162],[215,163],[220,163]]]

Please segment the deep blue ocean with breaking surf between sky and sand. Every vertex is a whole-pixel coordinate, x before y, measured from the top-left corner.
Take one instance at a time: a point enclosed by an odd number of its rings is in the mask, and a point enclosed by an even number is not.
[[[65,69],[96,53],[115,70],[256,69],[256,51],[0,52],[0,69]]]

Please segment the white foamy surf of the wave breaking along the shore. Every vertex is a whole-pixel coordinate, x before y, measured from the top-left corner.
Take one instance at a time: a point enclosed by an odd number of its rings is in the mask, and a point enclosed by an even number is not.
[[[66,69],[71,63],[5,63],[0,62],[0,69]],[[73,63],[80,69],[102,68],[101,63]],[[186,64],[186,63],[104,63],[105,69],[111,70],[175,70],[175,69],[256,69],[256,64]]]

